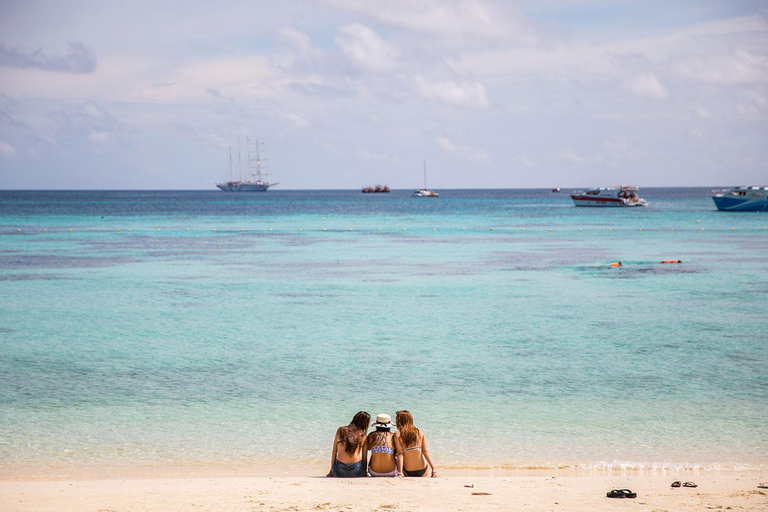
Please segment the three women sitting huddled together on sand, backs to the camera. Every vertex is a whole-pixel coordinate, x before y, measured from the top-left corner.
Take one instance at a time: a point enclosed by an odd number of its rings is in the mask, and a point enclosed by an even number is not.
[[[349,425],[336,430],[328,476],[361,477],[365,476],[366,468],[371,476],[378,477],[426,476],[429,468],[432,468],[431,476],[437,476],[427,449],[427,438],[413,425],[410,412],[397,412],[397,432],[394,434],[390,430],[395,426],[391,417],[379,414],[371,425],[376,430],[366,437],[370,418],[368,413],[360,411]],[[371,452],[370,465],[367,464],[368,450]]]

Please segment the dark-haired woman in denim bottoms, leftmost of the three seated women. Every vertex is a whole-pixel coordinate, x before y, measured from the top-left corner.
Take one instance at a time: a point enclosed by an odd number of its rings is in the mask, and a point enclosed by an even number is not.
[[[331,451],[331,470],[327,476],[355,478],[365,476],[368,446],[365,433],[371,415],[360,411],[355,414],[349,425],[336,429]],[[339,449],[341,447],[341,449]]]

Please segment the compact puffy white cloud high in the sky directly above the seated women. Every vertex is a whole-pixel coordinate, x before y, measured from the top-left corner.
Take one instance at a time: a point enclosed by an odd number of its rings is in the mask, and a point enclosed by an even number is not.
[[[358,68],[368,71],[391,71],[400,56],[379,34],[360,23],[342,28],[334,41]]]

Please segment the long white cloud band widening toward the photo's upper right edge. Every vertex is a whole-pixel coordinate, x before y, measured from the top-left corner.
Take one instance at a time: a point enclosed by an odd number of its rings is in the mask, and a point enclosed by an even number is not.
[[[660,68],[669,74],[715,84],[765,83],[768,57],[763,14],[699,23],[636,39],[605,43],[568,41],[554,47],[494,47],[464,51],[447,60],[462,75],[543,75],[568,79],[618,78],[631,69],[643,74]]]

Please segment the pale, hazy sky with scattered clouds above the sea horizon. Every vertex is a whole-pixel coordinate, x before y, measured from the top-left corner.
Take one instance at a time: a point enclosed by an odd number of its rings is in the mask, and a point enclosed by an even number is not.
[[[768,0],[0,0],[0,189],[246,137],[279,189],[768,185]]]

